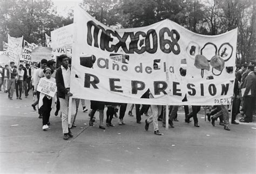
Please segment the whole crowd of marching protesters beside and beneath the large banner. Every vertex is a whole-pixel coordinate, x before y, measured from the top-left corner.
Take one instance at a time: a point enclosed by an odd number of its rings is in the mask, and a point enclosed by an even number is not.
[[[42,118],[43,127],[46,131],[50,125],[50,113],[52,109],[55,109],[55,115],[57,116],[60,111],[60,117],[62,118],[62,131],[63,139],[68,140],[72,137],[70,129],[76,127],[76,115],[78,112],[79,102],[81,100],[83,106],[83,112],[87,111],[84,99],[72,98],[72,108],[69,108],[69,97],[72,97],[70,92],[70,76],[71,76],[71,59],[65,54],[58,57],[57,68],[56,62],[52,60],[42,59],[39,63],[38,69],[32,70],[30,64],[25,64],[25,67],[20,64],[15,66],[14,62],[10,62],[10,67],[6,64],[4,67],[0,66],[0,91],[3,86],[3,91],[8,93],[8,98],[13,99],[14,91],[16,91],[16,99],[22,100],[22,93],[24,91],[25,98],[28,98],[29,91],[33,91],[35,102],[32,103],[33,110],[38,108],[38,118]],[[92,60],[88,68],[92,68],[95,60]],[[58,66],[59,65],[59,66]],[[232,104],[231,124],[239,124],[236,120],[237,114],[242,112],[243,117],[239,118],[240,122],[252,122],[253,112],[255,107],[256,98],[256,71],[254,64],[237,64],[235,70],[234,81],[234,95]],[[37,86],[42,79],[46,79],[51,82],[56,82],[57,93],[55,97],[45,95],[44,93],[37,91]],[[142,98],[153,98],[150,90],[147,90]],[[37,106],[37,107],[36,107]],[[153,123],[154,134],[163,135],[159,132],[158,121],[162,121],[163,127],[166,125],[165,112],[166,106],[160,105],[140,105],[132,104],[129,108],[128,115],[133,116],[132,111],[135,106],[136,121],[137,124],[141,124],[142,115],[147,115],[147,111],[151,108],[152,115],[145,120],[145,130],[148,131],[149,125]],[[114,126],[112,124],[113,117],[118,117],[118,125],[125,125],[124,116],[126,112],[127,104],[124,103],[110,103],[91,100],[91,110],[89,113],[90,121],[89,125],[93,126],[95,122],[95,113],[99,112],[99,128],[104,127],[104,109],[106,110],[106,126]],[[227,105],[208,106],[211,111],[207,113],[207,119],[215,126],[215,121],[219,118],[220,125],[224,126],[224,129],[230,131],[229,125],[229,112]],[[169,106],[169,127],[174,127],[173,121],[178,121],[177,112],[179,106]],[[200,111],[201,106],[192,106],[192,112],[189,113],[188,106],[184,106],[185,122],[190,123],[190,119],[193,118],[194,126],[199,127],[197,114]],[[241,109],[240,109],[241,108]],[[71,124],[68,124],[68,112],[71,109]]]

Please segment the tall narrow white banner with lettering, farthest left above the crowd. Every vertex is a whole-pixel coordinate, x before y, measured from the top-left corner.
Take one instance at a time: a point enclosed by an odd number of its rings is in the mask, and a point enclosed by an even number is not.
[[[14,62],[16,66],[19,64],[19,59],[22,56],[22,41],[23,36],[21,38],[12,38],[8,34],[8,53],[10,62]]]

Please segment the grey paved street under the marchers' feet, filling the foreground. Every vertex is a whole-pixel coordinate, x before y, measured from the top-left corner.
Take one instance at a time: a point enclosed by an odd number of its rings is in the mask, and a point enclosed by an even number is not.
[[[24,94],[23,94],[24,95]],[[90,103],[86,101],[87,107]],[[32,110],[32,95],[9,100],[0,92],[1,173],[255,173],[255,121],[231,125],[225,131],[213,127],[199,114],[200,128],[184,122],[179,111],[175,128],[164,136],[153,134],[125,115],[126,125],[99,129],[89,126],[89,112],[79,106],[74,137],[63,140],[61,119],[50,117],[51,126],[42,131],[42,119]],[[129,110],[130,105],[127,106]],[[203,110],[203,109],[202,109]],[[105,110],[106,111],[106,110]],[[151,112],[149,111],[149,114]],[[203,113],[203,112],[201,112]],[[105,114],[105,112],[104,112]],[[135,114],[135,108],[133,110]],[[104,119],[105,122],[105,119]]]

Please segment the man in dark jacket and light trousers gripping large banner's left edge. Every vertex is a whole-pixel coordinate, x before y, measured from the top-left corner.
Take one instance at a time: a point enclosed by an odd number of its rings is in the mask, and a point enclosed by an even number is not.
[[[73,118],[76,114],[76,102],[75,99],[72,99],[72,107],[69,108],[69,97],[73,96],[70,92],[71,71],[69,68],[69,57],[62,54],[59,56],[59,61],[62,66],[60,66],[56,71],[57,95],[59,97],[60,111],[62,112],[63,139],[68,140],[69,137],[73,137],[70,128],[72,127]],[[68,122],[69,110],[71,110],[71,124]]]

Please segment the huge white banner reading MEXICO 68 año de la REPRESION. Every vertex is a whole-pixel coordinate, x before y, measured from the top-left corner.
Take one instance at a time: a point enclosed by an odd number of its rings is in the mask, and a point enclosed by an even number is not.
[[[156,105],[231,104],[237,29],[200,35],[166,19],[118,30],[79,7],[74,25],[70,88],[74,98]],[[148,89],[154,98],[140,98]]]

